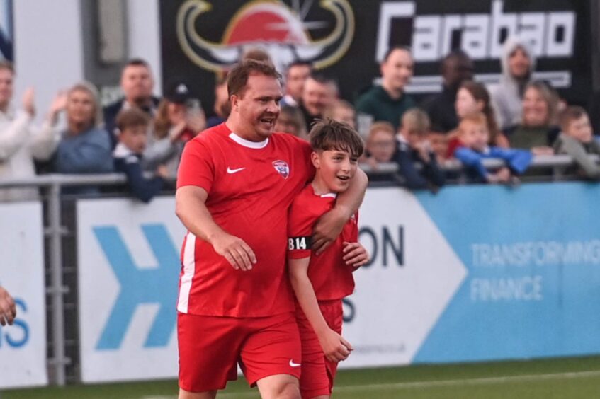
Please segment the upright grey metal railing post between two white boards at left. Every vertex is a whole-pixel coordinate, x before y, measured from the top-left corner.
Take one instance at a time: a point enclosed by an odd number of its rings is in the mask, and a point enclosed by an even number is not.
[[[48,234],[50,235],[50,288],[52,298],[52,359],[50,366],[54,369],[55,383],[65,384],[67,359],[64,356],[64,293],[62,283],[62,234],[63,226],[60,215],[60,183],[52,183],[48,192]]]

